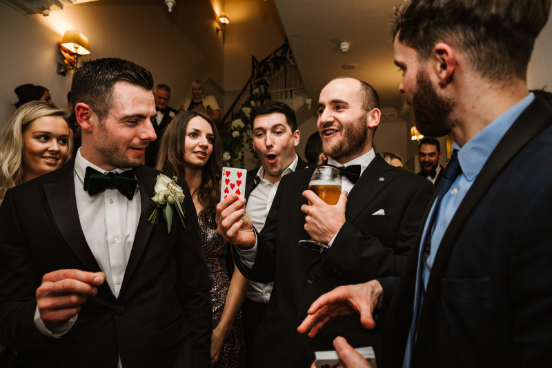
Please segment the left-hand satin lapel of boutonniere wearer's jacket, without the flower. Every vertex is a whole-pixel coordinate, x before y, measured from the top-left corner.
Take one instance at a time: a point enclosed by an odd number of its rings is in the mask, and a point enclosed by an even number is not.
[[[74,166],[75,161],[70,161],[60,169],[59,181],[43,183],[44,196],[50,209],[52,221],[68,247],[81,261],[83,265],[81,269],[97,272],[100,270],[99,265],[86,243],[79,221],[75,199],[75,179],[73,178]]]

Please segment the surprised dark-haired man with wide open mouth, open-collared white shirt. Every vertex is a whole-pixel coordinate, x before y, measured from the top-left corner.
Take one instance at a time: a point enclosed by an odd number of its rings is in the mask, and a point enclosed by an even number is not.
[[[261,231],[282,176],[306,167],[295,153],[299,130],[295,111],[280,101],[266,101],[251,109],[253,148],[261,167],[247,172],[245,198],[247,216]],[[255,333],[270,300],[273,283],[250,281],[242,306],[242,323],[246,343],[247,366],[251,367]]]

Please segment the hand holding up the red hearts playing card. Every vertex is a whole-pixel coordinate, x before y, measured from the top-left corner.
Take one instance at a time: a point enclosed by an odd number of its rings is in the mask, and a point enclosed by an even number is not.
[[[237,198],[236,194],[227,196],[217,205],[217,232],[230,244],[243,249],[255,245],[253,223],[246,215],[245,198]]]

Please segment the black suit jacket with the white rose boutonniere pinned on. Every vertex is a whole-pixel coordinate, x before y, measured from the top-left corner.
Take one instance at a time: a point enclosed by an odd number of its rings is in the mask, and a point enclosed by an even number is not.
[[[59,339],[35,327],[34,296],[57,269],[99,272],[79,222],[71,161],[8,190],[0,207],[0,339],[36,367],[208,367],[209,280],[197,216],[183,181],[186,228],[170,234],[148,216],[157,170],[140,166],[141,214],[118,298],[107,283],[89,296],[75,325]],[[77,188],[77,190],[82,190]]]

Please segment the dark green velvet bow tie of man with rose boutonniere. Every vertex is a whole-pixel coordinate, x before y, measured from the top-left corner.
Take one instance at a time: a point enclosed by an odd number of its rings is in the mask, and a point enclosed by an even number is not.
[[[102,174],[98,170],[94,170],[88,166],[86,167],[86,174],[84,174],[84,190],[90,196],[103,192],[106,189],[117,188],[121,194],[128,198],[128,201],[131,201],[136,192],[137,185],[138,180],[134,177],[133,170],[127,170],[120,174],[115,172]]]

